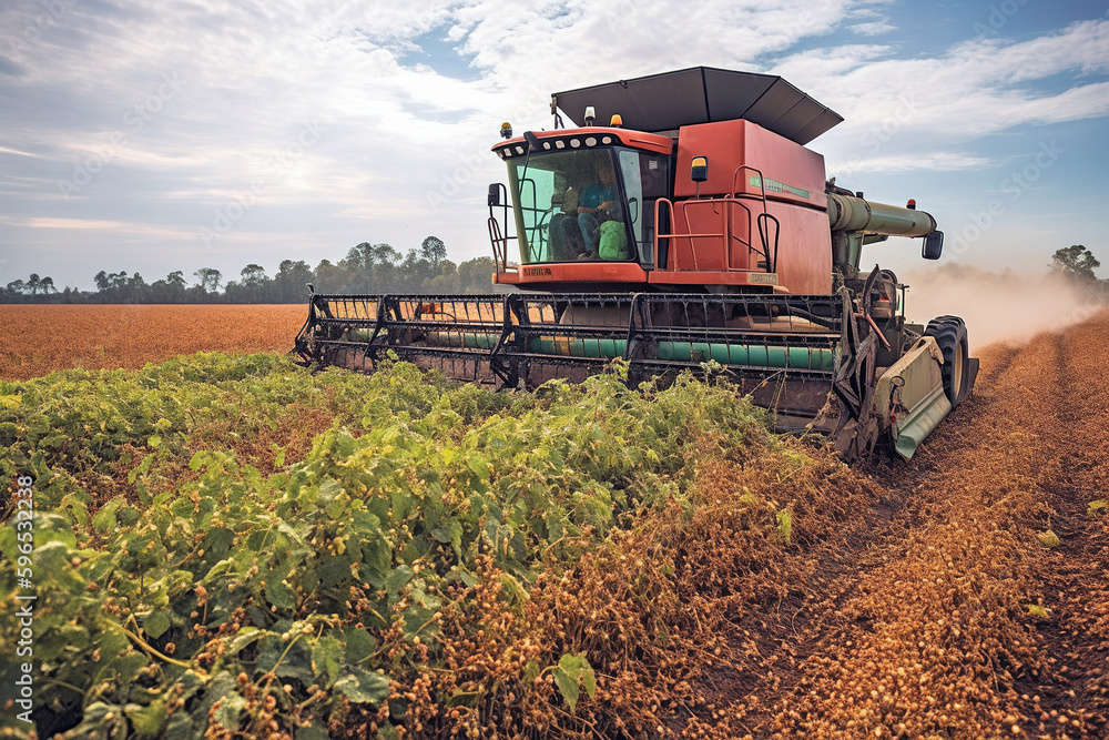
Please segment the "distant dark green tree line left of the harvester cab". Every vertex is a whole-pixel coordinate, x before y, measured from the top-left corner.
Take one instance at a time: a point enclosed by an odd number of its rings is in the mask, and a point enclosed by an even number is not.
[[[101,270],[93,277],[95,291],[59,291],[53,278],[32,273],[0,288],[0,303],[302,303],[308,296],[306,283],[317,293],[486,293],[494,270],[491,257],[451,262],[442,240],[428,236],[407,254],[389,244],[363,242],[338,262],[323,260],[315,270],[303,260],[284,260],[273,276],[251,263],[226,282],[214,267],[194,272],[193,284],[181,270],[153,283],[139,273]]]

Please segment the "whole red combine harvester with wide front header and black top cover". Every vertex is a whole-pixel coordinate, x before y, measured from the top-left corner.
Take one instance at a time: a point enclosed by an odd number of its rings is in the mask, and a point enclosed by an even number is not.
[[[866,244],[922,237],[936,260],[943,233],[913,201],[826,180],[805,144],[840,115],[779,77],[702,67],[556,93],[551,110],[552,130],[506,123],[492,148],[501,292],[313,294],[305,363],[372,372],[391,352],[501,387],[618,358],[632,382],[716,368],[848,459],[878,443],[912,457],[970,393],[963,321],[913,324],[892,272],[859,272]]]

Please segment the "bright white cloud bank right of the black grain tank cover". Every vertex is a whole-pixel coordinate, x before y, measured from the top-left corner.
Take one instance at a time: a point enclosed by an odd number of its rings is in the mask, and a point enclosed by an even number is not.
[[[981,154],[952,153],[1025,124],[1109,113],[1109,21],[1075,23],[1016,43],[969,41],[936,58],[894,59],[886,47],[795,55],[780,69],[844,115],[821,146],[851,170],[980,169]],[[1067,85],[1060,75],[1077,75]]]

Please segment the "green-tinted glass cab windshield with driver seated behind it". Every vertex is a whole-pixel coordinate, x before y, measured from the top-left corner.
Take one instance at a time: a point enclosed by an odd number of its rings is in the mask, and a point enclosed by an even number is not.
[[[644,234],[640,156],[598,148],[509,161],[520,262],[638,260]]]

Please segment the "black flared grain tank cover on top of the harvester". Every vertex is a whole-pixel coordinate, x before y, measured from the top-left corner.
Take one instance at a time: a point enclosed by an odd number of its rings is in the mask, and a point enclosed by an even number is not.
[[[628,129],[676,131],[683,125],[745,119],[798,144],[807,144],[843,116],[775,74],[692,67],[554,93],[580,125],[592,105],[602,125],[613,114]]]

